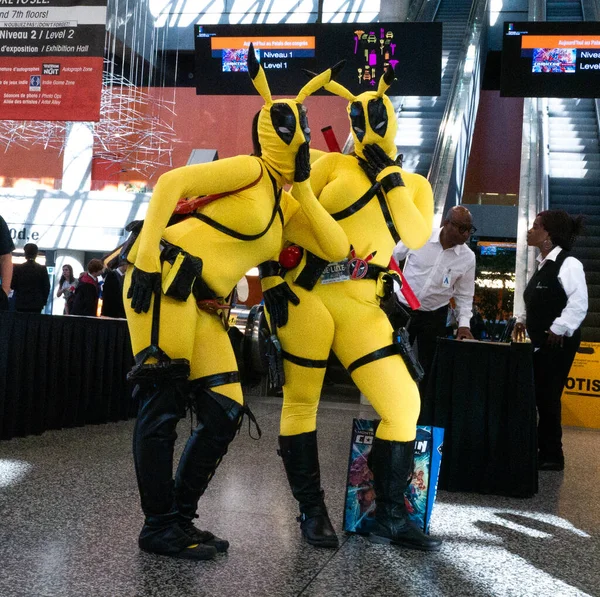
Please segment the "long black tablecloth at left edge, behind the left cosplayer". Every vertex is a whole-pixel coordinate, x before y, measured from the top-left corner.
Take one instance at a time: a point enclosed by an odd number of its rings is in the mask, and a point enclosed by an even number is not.
[[[135,416],[125,320],[0,312],[0,439]]]

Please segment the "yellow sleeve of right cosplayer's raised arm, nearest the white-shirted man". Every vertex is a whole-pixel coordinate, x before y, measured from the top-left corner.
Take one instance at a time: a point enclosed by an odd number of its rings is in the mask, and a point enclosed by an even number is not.
[[[402,170],[402,179],[406,186],[393,188],[386,199],[402,242],[409,249],[419,249],[431,236],[433,192],[420,174]]]

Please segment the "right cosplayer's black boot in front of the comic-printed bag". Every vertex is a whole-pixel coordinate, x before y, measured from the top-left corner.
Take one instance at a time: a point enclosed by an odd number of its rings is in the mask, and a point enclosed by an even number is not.
[[[412,473],[414,445],[414,441],[393,442],[377,437],[373,440],[369,467],[373,472],[377,510],[369,539],[372,543],[438,551],[442,542],[417,528],[406,511],[404,492]]]

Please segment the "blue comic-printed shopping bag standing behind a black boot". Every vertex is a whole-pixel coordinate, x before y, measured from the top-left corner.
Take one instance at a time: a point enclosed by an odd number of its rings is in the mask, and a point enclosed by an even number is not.
[[[378,424],[378,420],[369,419],[354,419],[352,424],[343,525],[349,533],[368,534],[375,521],[376,496],[367,458]],[[414,470],[404,501],[410,519],[425,533],[429,533],[437,492],[443,439],[440,427],[417,427]]]

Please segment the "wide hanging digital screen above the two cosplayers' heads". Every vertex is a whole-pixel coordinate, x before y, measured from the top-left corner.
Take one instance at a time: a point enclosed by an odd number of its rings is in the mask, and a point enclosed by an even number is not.
[[[194,36],[198,95],[256,94],[246,72],[250,42],[274,95],[296,95],[308,80],[302,69],[340,60],[337,81],[352,93],[376,89],[391,64],[397,81],[388,95],[440,94],[441,23],[196,25]]]

